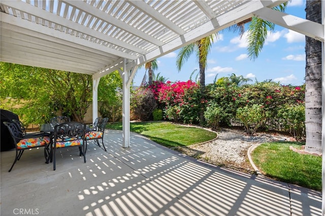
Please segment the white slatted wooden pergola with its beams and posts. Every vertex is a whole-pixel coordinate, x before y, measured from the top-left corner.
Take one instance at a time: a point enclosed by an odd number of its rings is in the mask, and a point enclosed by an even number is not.
[[[284,2],[2,0],[0,60],[92,75],[93,119],[98,115],[101,77],[118,70],[123,80],[123,145],[127,148],[129,87],[138,66],[256,16],[322,42],[324,155],[325,3],[318,24],[272,10]],[[324,171],[322,175],[324,179]],[[324,191],[323,183],[323,197]]]

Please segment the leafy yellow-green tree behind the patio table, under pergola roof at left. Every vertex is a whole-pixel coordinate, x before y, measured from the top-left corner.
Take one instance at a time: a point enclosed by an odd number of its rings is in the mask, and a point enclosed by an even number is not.
[[[25,124],[45,123],[54,112],[82,122],[91,103],[89,75],[5,62],[1,75],[1,99],[12,98],[2,107],[19,104],[15,112]]]

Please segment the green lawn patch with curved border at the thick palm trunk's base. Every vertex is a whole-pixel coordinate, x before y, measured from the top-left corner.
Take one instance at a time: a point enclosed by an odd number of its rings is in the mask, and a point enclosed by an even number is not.
[[[270,142],[258,146],[252,159],[258,169],[281,182],[321,190],[321,157],[303,155],[289,149],[301,149],[300,142]]]

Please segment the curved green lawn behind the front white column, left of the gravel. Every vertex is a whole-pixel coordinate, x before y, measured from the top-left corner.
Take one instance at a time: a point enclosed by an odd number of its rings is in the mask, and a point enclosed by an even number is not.
[[[122,123],[107,124],[106,128],[122,130]],[[130,130],[168,148],[190,146],[216,138],[217,134],[202,128],[186,127],[171,122],[135,122]]]

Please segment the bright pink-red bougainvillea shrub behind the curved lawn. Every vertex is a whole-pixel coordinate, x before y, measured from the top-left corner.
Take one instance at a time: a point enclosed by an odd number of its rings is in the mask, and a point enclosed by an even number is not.
[[[159,86],[160,103],[165,105],[165,118],[175,122],[195,124],[199,121],[201,100],[199,85],[192,82],[176,82]]]

